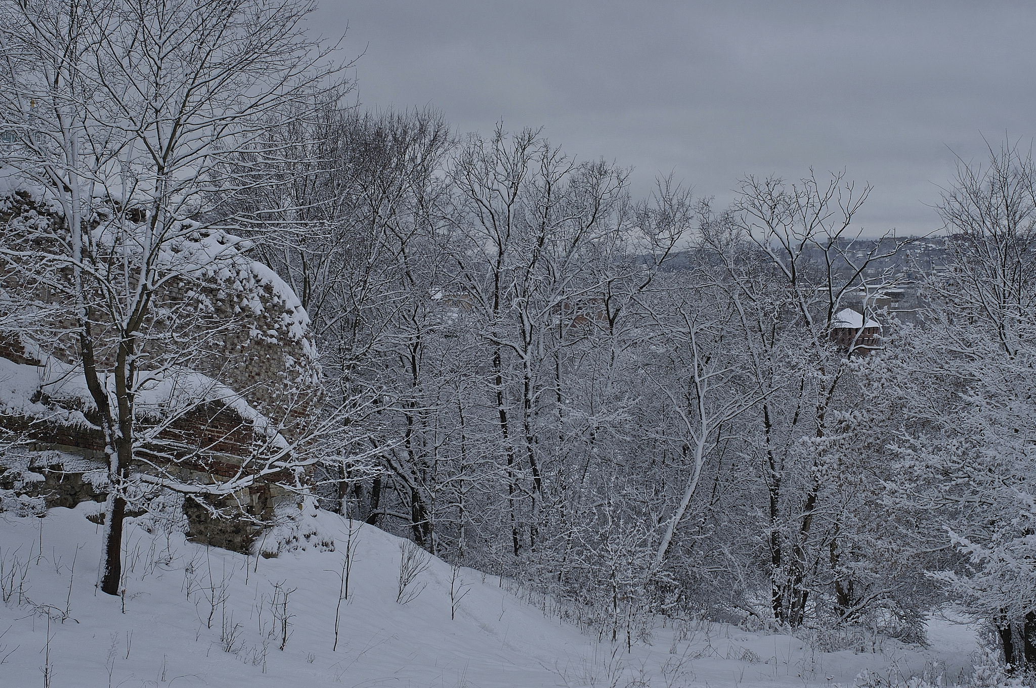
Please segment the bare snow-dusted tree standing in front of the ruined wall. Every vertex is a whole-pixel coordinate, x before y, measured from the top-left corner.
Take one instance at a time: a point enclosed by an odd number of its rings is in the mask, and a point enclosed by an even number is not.
[[[263,143],[271,121],[299,116],[340,88],[336,68],[320,66],[334,47],[301,28],[312,10],[297,0],[4,5],[0,108],[19,139],[8,163],[62,219],[44,248],[7,243],[4,255],[49,269],[49,286],[73,313],[77,365],[109,463],[105,593],[118,594],[131,466],[157,437],[141,428],[138,405],[156,383],[173,390],[201,379],[184,373],[192,337],[215,318],[196,285],[232,269],[246,248],[225,231],[232,226],[212,226],[212,211],[241,188],[269,181],[228,175],[227,163],[241,150],[271,153]],[[168,401],[167,421],[184,411]],[[152,480],[228,493],[283,471],[295,462],[291,442],[269,430],[268,450],[258,453],[263,467],[235,480],[184,485],[162,471]],[[152,451],[148,462],[162,466],[172,456]]]

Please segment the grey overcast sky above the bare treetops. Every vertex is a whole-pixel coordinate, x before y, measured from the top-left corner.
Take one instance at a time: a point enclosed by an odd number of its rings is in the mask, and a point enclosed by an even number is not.
[[[367,107],[460,132],[543,125],[580,160],[732,198],[746,174],[845,169],[867,234],[938,229],[956,152],[1036,135],[1036,3],[320,0]]]

